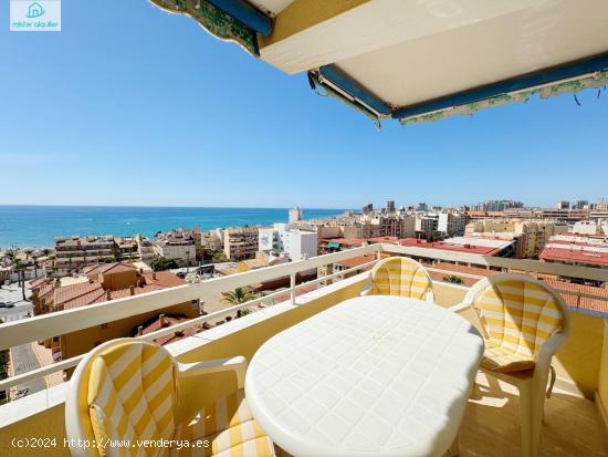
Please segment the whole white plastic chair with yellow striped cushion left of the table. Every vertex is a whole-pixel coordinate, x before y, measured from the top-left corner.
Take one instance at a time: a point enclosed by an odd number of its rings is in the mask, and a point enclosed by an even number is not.
[[[134,339],[95,347],[78,363],[70,381],[65,429],[72,456],[97,457],[102,450],[107,456],[148,455],[155,449],[137,447],[145,440],[171,440],[169,445],[208,442],[208,448],[188,449],[195,456],[274,456],[272,442],[244,401],[245,368],[242,356],[179,363],[164,347]],[[196,396],[186,395],[187,378],[226,371],[237,377],[235,393],[205,407],[197,405]],[[192,408],[195,413],[189,411]],[[113,442],[134,445],[93,446]],[[175,453],[178,449],[169,447],[156,449],[154,455]]]

